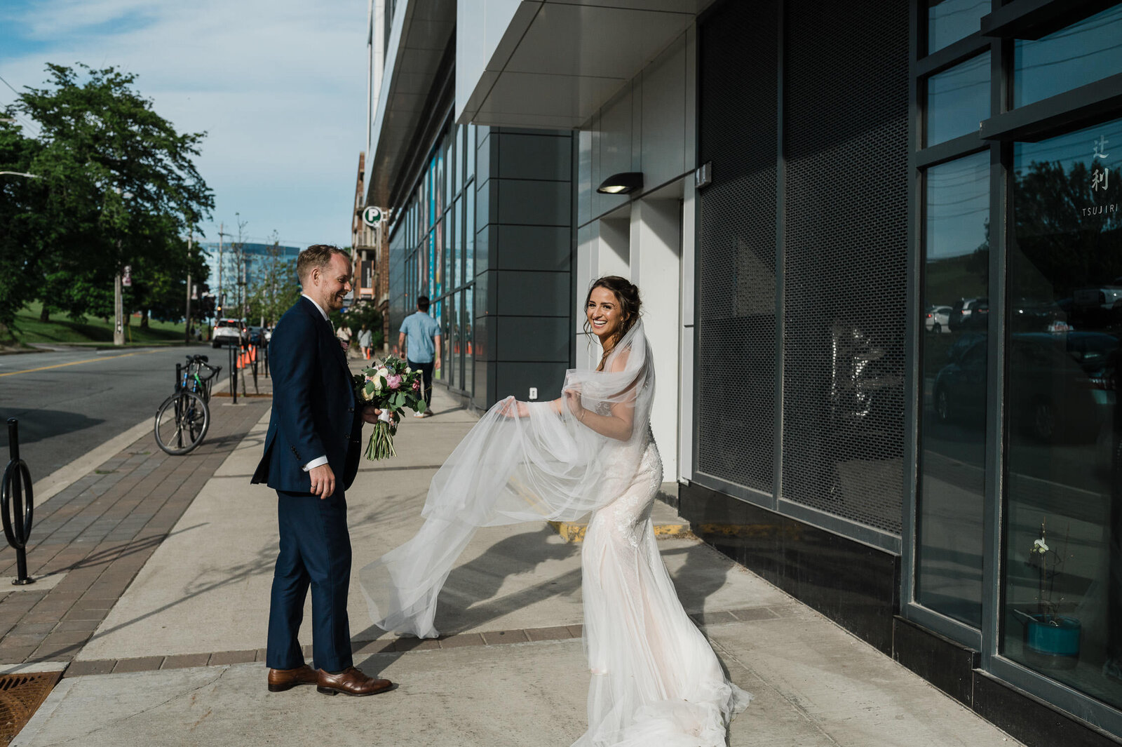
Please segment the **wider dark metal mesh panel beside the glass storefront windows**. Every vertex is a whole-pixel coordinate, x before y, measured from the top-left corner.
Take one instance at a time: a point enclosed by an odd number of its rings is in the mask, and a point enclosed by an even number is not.
[[[787,7],[783,497],[899,534],[908,3]]]

